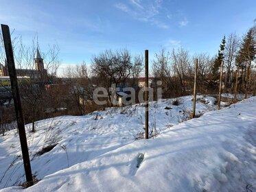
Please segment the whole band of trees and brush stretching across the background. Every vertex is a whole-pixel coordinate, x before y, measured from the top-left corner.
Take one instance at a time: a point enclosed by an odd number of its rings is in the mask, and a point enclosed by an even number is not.
[[[2,40],[0,40],[2,43]],[[16,66],[23,69],[34,68],[36,41],[31,47],[25,47],[22,38],[14,38],[14,57]],[[58,45],[49,46],[43,53],[48,78],[45,84],[21,85],[25,123],[58,115],[84,115],[94,110],[112,106],[97,106],[93,102],[96,87],[108,90],[110,87],[132,86],[139,91],[138,80],[143,77],[144,58],[141,54],[132,54],[128,49],[110,50],[92,56],[91,64],[83,62],[65,70],[65,77],[56,77],[60,66]],[[220,40],[220,48],[215,56],[209,53],[197,53],[191,56],[183,47],[178,49],[161,49],[154,53],[150,61],[150,77],[161,80],[157,85],[162,88],[163,98],[190,95],[193,93],[194,60],[198,59],[198,93],[216,94],[220,81],[220,65],[224,61],[224,93],[255,93],[255,54],[256,25],[248,29],[244,36],[231,33]],[[3,44],[0,46],[0,60],[4,60]],[[236,84],[237,82],[237,84]],[[4,112],[4,110],[6,112]],[[9,109],[1,106],[1,114]],[[8,112],[8,114],[11,114]],[[1,118],[3,119],[3,118]],[[1,120],[1,123],[3,121]]]

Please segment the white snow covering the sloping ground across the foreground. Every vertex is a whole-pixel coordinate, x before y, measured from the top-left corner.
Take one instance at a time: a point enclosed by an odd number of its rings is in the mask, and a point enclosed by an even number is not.
[[[148,140],[135,139],[143,132],[142,104],[36,122],[27,141],[41,180],[25,191],[255,191],[256,97],[211,111],[216,99],[201,95],[196,114],[206,113],[185,121],[191,98],[178,98],[178,106],[174,99],[151,102],[156,136]],[[21,191],[10,187],[25,180],[20,154],[15,130],[0,137],[0,187],[9,187],[0,191]]]

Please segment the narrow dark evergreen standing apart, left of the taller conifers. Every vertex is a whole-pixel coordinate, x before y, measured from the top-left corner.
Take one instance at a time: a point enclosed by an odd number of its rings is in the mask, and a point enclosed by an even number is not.
[[[226,44],[226,38],[222,38],[222,43],[220,44],[220,50],[218,50],[218,56],[216,56],[216,59],[213,62],[213,67],[211,68],[211,75],[212,80],[216,81],[220,77],[219,69],[220,65],[222,63],[222,60],[224,59],[224,49]]]

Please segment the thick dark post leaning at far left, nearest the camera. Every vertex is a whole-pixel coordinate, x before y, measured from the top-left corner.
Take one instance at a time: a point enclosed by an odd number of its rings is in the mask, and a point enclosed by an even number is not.
[[[21,141],[21,152],[23,156],[25,176],[27,180],[27,185],[32,186],[33,177],[32,177],[32,171],[30,167],[30,154],[27,148],[27,138],[26,138],[26,132],[25,132],[25,126],[24,126],[24,120],[23,120],[23,113],[21,109],[21,97],[19,94],[19,87],[18,87],[16,69],[14,64],[10,29],[8,25],[3,25],[3,24],[1,25],[1,28],[3,32],[3,42],[4,42],[5,53],[6,53],[7,63],[8,63],[8,71],[9,71],[10,82],[12,87],[12,97],[14,100],[16,119],[17,119],[17,124],[19,129],[19,138]]]

